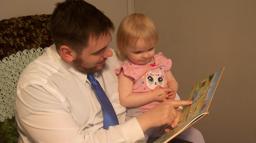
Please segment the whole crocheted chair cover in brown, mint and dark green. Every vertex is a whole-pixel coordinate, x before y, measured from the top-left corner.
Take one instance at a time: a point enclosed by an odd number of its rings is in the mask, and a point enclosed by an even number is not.
[[[16,143],[14,93],[21,72],[53,44],[48,14],[0,21],[0,143]]]

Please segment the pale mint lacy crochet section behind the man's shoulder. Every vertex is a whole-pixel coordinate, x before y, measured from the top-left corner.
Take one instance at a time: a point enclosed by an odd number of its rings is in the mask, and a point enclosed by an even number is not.
[[[0,61],[0,121],[14,116],[14,98],[19,75],[47,48],[25,49]]]

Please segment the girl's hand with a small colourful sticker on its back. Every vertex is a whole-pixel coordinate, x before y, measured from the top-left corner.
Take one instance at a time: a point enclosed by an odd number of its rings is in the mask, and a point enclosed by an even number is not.
[[[154,101],[158,101],[158,102],[168,100],[168,98],[170,97],[169,93],[173,93],[174,91],[175,90],[172,88],[162,88],[161,85],[158,85],[152,91],[153,99]],[[173,95],[172,95],[172,98],[173,98]],[[175,99],[175,95],[174,95],[174,99]]]

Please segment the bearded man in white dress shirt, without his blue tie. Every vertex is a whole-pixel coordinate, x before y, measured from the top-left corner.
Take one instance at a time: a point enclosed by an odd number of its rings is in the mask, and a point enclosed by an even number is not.
[[[30,63],[21,74],[15,95],[19,143],[137,142],[147,129],[170,126],[175,107],[190,101],[162,102],[125,122],[120,105],[120,66],[109,49],[113,23],[83,0],[58,3],[50,31],[55,45]],[[113,55],[113,56],[112,56]],[[108,59],[107,59],[108,58]],[[87,77],[94,73],[112,103],[119,125],[103,129],[103,111]]]

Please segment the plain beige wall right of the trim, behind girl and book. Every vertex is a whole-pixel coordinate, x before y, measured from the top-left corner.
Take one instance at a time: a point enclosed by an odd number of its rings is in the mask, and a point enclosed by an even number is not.
[[[187,99],[192,86],[225,66],[209,107],[196,122],[206,143],[256,142],[256,1],[134,0],[158,27],[156,52],[170,58]]]

